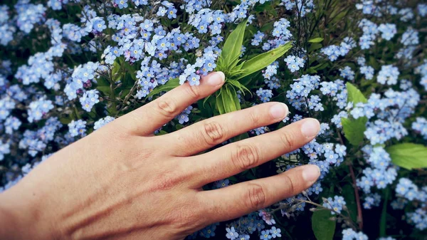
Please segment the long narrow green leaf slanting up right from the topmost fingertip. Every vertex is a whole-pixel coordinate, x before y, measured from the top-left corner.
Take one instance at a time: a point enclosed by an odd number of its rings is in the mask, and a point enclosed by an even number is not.
[[[251,73],[255,73],[256,71],[260,71],[266,66],[269,66],[276,59],[280,58],[281,56],[283,56],[283,54],[289,51],[290,48],[292,48],[292,45],[289,42],[266,53],[261,53],[260,55],[255,56],[255,58],[251,58],[251,60],[242,63],[242,73],[238,76],[238,78],[236,78],[236,80],[244,78],[247,75],[250,75]]]

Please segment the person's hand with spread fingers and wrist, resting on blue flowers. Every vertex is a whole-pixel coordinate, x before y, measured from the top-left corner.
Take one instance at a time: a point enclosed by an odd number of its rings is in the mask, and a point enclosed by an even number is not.
[[[204,226],[310,187],[320,175],[315,165],[202,190],[205,184],[302,147],[317,135],[319,122],[305,119],[206,151],[283,120],[288,114],[283,103],[265,103],[153,135],[191,103],[215,93],[223,79],[218,72],[198,86],[181,85],[42,162],[0,194],[0,239],[184,239]]]

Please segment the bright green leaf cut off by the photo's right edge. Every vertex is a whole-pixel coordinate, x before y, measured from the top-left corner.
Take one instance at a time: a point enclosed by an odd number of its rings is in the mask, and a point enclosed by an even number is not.
[[[386,148],[391,162],[406,169],[427,167],[427,147],[415,143],[401,143]]]

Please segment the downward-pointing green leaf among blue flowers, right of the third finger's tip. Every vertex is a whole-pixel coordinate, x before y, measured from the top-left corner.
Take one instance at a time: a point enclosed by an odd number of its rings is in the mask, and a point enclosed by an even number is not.
[[[342,129],[344,130],[344,135],[349,142],[358,146],[364,139],[364,131],[367,130],[367,117],[357,118],[350,120],[348,118],[341,118]]]

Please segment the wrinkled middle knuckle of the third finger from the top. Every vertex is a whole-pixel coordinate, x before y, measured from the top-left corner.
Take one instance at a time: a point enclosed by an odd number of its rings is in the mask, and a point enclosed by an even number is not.
[[[239,145],[236,153],[231,157],[234,167],[240,171],[250,169],[258,165],[258,148],[253,145]]]

